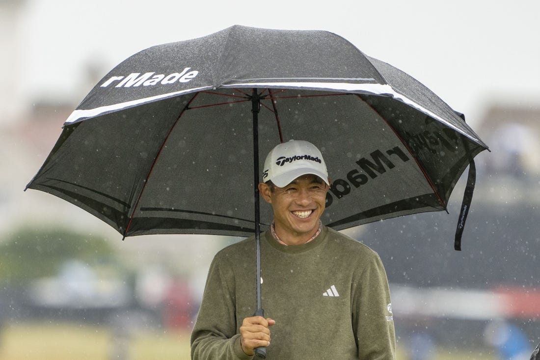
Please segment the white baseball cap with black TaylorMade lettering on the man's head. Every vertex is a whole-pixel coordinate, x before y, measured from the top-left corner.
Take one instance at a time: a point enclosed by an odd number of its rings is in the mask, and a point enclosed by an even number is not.
[[[299,176],[313,174],[328,185],[328,170],[319,149],[310,142],[291,140],[272,149],[265,160],[262,181],[283,188]]]

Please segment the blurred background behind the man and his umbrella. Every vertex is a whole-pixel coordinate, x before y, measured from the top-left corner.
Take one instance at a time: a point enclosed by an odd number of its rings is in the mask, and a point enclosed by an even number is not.
[[[419,79],[491,152],[449,214],[347,231],[379,252],[399,359],[528,359],[540,341],[540,3],[0,0],[0,359],[189,358],[210,261],[238,238],[139,236],[24,192],[114,65],[234,24],[320,29]],[[519,355],[521,354],[521,355]],[[519,357],[522,356],[522,357]]]

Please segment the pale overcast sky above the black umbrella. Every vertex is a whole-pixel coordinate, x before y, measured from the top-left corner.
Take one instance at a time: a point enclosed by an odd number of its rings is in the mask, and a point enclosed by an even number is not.
[[[540,2],[27,0],[21,81],[26,96],[71,94],[139,50],[234,24],[321,29],[416,77],[471,124],[490,101],[540,103]]]

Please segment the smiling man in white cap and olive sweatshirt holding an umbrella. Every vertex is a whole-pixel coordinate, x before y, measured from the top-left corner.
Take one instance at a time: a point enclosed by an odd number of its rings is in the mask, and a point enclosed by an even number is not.
[[[254,237],[214,257],[191,336],[193,360],[394,359],[388,280],[367,246],[322,226],[330,180],[321,152],[289,141],[266,157],[259,192],[272,205],[261,234],[262,304],[255,312]],[[272,330],[271,330],[272,329]]]

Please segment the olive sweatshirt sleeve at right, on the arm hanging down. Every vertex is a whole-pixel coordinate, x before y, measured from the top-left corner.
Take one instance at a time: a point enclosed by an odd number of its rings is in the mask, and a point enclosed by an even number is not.
[[[353,328],[360,360],[394,360],[395,330],[388,279],[375,252],[359,271],[353,291]]]

